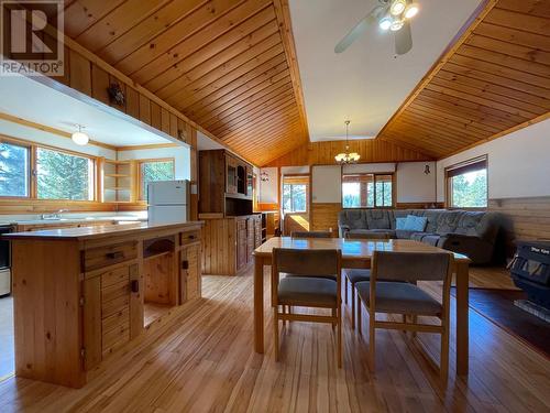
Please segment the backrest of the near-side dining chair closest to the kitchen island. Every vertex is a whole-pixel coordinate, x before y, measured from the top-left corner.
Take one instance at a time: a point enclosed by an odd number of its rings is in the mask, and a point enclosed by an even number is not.
[[[301,276],[340,276],[340,250],[273,249],[276,272]]]

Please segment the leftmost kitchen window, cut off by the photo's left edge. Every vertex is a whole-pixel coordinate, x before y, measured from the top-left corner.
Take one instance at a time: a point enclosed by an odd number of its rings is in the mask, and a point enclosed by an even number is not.
[[[0,196],[29,196],[29,146],[0,142]]]

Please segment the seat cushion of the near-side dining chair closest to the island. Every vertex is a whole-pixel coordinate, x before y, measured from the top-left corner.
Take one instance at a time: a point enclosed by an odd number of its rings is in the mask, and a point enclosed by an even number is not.
[[[337,283],[328,279],[287,276],[278,284],[278,303],[297,306],[337,306]]]

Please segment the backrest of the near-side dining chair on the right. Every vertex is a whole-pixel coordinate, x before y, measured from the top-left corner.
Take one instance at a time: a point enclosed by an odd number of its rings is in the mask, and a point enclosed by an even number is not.
[[[376,279],[402,281],[448,281],[452,256],[448,252],[374,251]]]

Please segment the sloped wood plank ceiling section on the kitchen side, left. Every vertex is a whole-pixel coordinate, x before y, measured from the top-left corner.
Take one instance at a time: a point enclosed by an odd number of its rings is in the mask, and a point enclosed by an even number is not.
[[[65,33],[262,165],[308,142],[282,0],[66,0]]]

